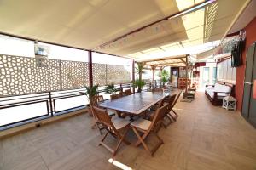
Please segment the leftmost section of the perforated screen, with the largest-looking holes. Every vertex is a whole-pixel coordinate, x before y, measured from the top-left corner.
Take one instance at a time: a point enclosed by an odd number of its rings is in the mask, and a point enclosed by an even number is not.
[[[0,55],[0,96],[60,90],[58,60]]]

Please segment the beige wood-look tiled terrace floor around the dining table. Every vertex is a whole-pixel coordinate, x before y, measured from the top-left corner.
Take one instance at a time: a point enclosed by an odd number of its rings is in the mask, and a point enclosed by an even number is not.
[[[177,122],[160,129],[165,144],[154,157],[142,146],[122,145],[109,163],[91,117],[81,115],[0,140],[0,169],[256,169],[256,130],[238,112],[213,107],[202,93],[176,110]],[[129,139],[136,139],[132,132]]]

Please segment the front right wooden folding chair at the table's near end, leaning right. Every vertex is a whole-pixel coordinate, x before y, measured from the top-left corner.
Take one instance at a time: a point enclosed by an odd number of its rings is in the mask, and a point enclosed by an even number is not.
[[[136,146],[139,144],[143,144],[145,150],[148,151],[150,156],[154,155],[154,152],[163,144],[163,140],[160,139],[159,135],[157,134],[157,127],[159,127],[162,123],[162,117],[166,114],[167,105],[164,105],[157,109],[154,114],[154,119],[152,121],[148,121],[146,119],[140,118],[134,122],[131,122],[131,128],[134,133],[137,135],[138,141]],[[142,135],[140,133],[143,133]],[[145,143],[145,139],[148,137],[150,133],[153,133],[154,136],[159,140],[157,144],[155,144],[154,148],[150,150],[148,145]]]

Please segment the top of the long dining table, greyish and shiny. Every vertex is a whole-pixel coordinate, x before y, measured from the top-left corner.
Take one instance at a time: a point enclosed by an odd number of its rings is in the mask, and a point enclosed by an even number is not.
[[[124,111],[138,115],[143,111],[147,110],[150,106],[159,102],[161,99],[164,99],[166,95],[168,94],[142,92],[124,96],[119,99],[108,99],[99,104],[98,106],[113,109],[115,111]]]

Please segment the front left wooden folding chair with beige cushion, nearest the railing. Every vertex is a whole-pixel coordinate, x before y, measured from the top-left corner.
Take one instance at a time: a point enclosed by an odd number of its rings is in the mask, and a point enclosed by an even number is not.
[[[104,135],[99,145],[104,146],[106,149],[112,152],[113,156],[115,156],[122,142],[125,144],[130,144],[127,140],[125,140],[126,133],[130,129],[130,121],[118,117],[111,119],[108,116],[107,110],[98,108],[96,106],[93,106],[93,110],[95,111],[99,122],[101,122],[107,130],[107,133]],[[118,139],[118,143],[114,149],[104,143],[104,140],[107,138],[108,134],[111,134],[115,139]]]

